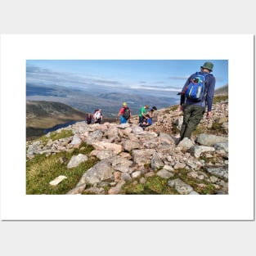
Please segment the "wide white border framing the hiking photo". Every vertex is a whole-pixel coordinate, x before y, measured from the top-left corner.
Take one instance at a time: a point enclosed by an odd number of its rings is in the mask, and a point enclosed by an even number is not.
[[[229,60],[229,195],[25,195],[27,59]],[[252,34],[2,35],[1,219],[253,220],[253,92]]]

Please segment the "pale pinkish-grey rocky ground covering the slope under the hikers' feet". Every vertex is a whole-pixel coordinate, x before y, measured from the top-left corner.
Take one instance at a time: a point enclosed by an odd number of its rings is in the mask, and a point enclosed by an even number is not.
[[[227,117],[227,101],[213,107],[212,124]],[[222,120],[224,123],[228,119]],[[166,179],[167,186],[177,194],[200,194],[186,183],[186,179],[193,179],[199,187],[204,187],[206,182],[212,184],[215,194],[228,193],[227,135],[201,133],[177,144],[178,133],[173,132],[173,126],[181,122],[181,113],[177,110],[159,110],[158,122],[146,130],[137,125],[137,117],[131,121],[132,124],[122,125],[78,122],[62,128],[72,130],[72,137],[56,141],[49,139],[47,143],[28,142],[27,158],[31,159],[36,154],[70,151],[82,142],[91,145],[94,150],[89,155],[78,154],[68,163],[64,161],[66,167],[72,169],[89,158],[98,159],[92,168],[84,170],[83,176],[68,194],[120,194],[126,183],[143,183],[152,176]],[[209,120],[203,119],[200,125],[209,128]],[[185,179],[178,177],[182,169],[186,170]]]

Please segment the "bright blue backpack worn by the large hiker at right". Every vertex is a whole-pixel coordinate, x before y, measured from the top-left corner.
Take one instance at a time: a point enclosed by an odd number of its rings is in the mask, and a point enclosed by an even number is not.
[[[204,84],[208,75],[207,73],[195,73],[183,92],[187,99],[190,101],[202,101],[204,99]]]

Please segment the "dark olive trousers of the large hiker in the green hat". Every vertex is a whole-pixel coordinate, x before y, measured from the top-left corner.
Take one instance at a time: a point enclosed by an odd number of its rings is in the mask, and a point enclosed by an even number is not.
[[[183,123],[181,128],[181,140],[184,137],[191,138],[191,133],[195,130],[200,120],[204,116],[204,106],[188,105],[184,108]]]

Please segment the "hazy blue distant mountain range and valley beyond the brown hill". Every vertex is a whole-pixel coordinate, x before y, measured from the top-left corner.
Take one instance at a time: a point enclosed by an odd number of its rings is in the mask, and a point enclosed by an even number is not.
[[[161,94],[162,93],[162,94]],[[37,86],[31,83],[26,85],[27,101],[56,101],[72,106],[84,112],[93,113],[101,108],[106,117],[116,116],[122,103],[128,103],[132,114],[138,114],[141,106],[149,105],[163,108],[177,104],[177,92],[148,92],[126,90],[123,92],[102,91],[101,88],[92,88],[90,92],[78,88],[66,88],[58,85]]]

